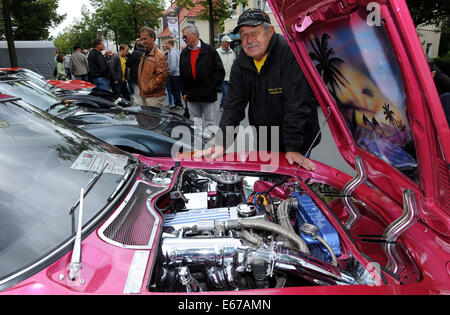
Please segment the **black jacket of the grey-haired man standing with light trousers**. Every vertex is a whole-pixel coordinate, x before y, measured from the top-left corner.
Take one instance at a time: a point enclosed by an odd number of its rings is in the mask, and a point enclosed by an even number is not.
[[[217,51],[203,41],[201,43],[195,64],[195,80],[191,68],[191,50],[185,48],[180,54],[181,93],[187,95],[190,102],[215,102],[225,78],[225,69]]]

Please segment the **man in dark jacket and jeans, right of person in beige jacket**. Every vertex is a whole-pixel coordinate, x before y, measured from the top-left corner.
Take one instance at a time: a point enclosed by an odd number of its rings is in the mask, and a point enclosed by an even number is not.
[[[93,44],[94,49],[88,56],[89,76],[94,80],[97,89],[109,91],[111,87],[111,71],[106,63],[102,51],[105,45],[102,39],[96,39]]]

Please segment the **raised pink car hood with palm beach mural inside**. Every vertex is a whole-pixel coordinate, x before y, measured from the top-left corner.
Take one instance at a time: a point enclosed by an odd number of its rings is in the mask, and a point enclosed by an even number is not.
[[[450,131],[405,1],[269,4],[344,159],[449,236]]]

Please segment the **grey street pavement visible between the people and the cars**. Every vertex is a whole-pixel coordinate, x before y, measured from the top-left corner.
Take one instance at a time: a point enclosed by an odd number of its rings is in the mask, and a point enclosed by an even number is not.
[[[167,105],[168,105],[168,102],[167,102],[167,98],[166,98],[166,103],[165,103],[166,109],[174,111],[178,114],[184,113],[184,110],[170,109],[169,107],[167,107]],[[220,118],[222,117],[222,112],[220,111],[220,108],[219,108],[219,102],[216,103],[215,113],[216,113],[215,121],[216,121],[216,125],[218,126],[219,122],[220,122]],[[324,121],[325,121],[325,116],[320,108],[318,108],[318,113],[319,113],[319,125],[323,126]],[[246,112],[246,118],[241,122],[241,126],[247,127],[248,125],[249,125],[248,115]],[[252,141],[251,138],[252,137],[248,138],[247,141]],[[249,148],[248,145],[244,146],[245,138],[243,137],[243,134],[241,134],[241,133],[238,134],[238,136],[236,138],[236,142],[239,143],[240,148],[242,148],[242,147]],[[253,147],[253,149],[254,149],[254,147]],[[227,152],[231,152],[231,151],[232,150],[229,150]],[[322,129],[322,140],[320,141],[320,144],[318,146],[316,146],[311,152],[311,159],[322,162],[329,166],[332,166],[350,176],[355,175],[355,171],[342,158],[327,124],[325,124],[324,128]]]

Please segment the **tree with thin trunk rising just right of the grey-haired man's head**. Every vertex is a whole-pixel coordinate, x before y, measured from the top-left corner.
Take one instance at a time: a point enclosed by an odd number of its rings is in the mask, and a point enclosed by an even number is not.
[[[214,45],[216,26],[229,19],[233,15],[233,10],[230,3],[226,0],[200,0],[198,3],[203,7],[203,10],[200,12],[200,18],[209,22],[209,44]],[[234,3],[246,6],[248,1],[235,0]],[[177,7],[190,9],[197,4],[197,1],[176,0],[175,4]]]

